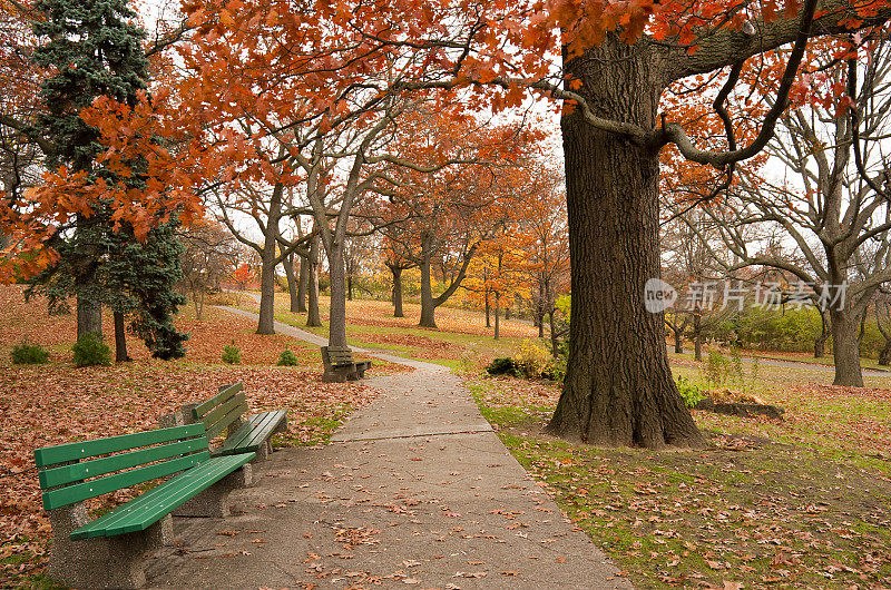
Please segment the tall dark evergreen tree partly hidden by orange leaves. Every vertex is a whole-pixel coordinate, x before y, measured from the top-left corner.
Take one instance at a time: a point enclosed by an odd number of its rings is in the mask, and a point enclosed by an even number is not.
[[[42,111],[33,131],[52,146],[47,167],[66,166],[94,181],[102,178],[138,188],[145,181],[139,161],[129,163],[134,174],[127,178],[94,166],[102,149],[99,132],[80,117],[99,96],[133,107],[147,89],[146,35],[128,22],[135,12],[125,0],[38,0],[35,8],[45,17],[35,24],[35,33],[46,40],[35,50],[35,61],[49,70],[49,77],[41,87]],[[51,312],[65,308],[66,299],[75,295],[78,336],[100,332],[101,305],[111,307],[118,361],[127,360],[125,315],[134,317],[130,328],[153,356],[183,356],[188,336],[173,327],[173,315],[185,303],[173,292],[182,277],[182,247],[174,236],[177,223],[158,226],[139,243],[133,227],[114,227],[109,203],[94,203],[92,209],[89,217],[78,216],[74,228],[59,232],[52,246],[60,260],[33,279],[29,293],[46,294]]]

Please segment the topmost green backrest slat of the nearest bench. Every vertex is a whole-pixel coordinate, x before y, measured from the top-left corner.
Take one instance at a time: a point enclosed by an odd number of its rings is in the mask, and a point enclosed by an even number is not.
[[[186,424],[185,426],[174,426],[170,429],[151,430],[147,432],[136,432],[133,434],[121,434],[98,439],[95,441],[82,441],[76,443],[46,446],[35,451],[35,463],[38,468],[89,459],[96,455],[127,451],[150,444],[192,439],[204,435],[203,424]]]

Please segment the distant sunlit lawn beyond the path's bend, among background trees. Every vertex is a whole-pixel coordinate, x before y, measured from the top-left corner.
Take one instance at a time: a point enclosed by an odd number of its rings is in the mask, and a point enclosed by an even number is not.
[[[233,304],[257,312],[256,293],[233,293]],[[322,326],[307,327],[305,314],[290,311],[286,293],[276,293],[275,318],[278,322],[300,327],[319,336],[327,336],[330,298],[320,297]],[[493,338],[493,328],[487,328],[484,315],[469,309],[439,307],[437,325],[439,330],[418,326],[421,306],[413,303],[403,305],[405,317],[393,317],[389,302],[354,299],[346,302],[347,344],[363,348],[386,348],[402,356],[459,366],[463,358],[491,360],[496,356],[510,356],[513,348],[526,338],[538,337],[538,328],[525,322],[501,321],[501,338]]]

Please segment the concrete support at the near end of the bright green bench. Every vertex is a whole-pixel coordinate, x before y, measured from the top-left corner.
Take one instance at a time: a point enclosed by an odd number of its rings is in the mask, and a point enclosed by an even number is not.
[[[47,574],[72,588],[141,588],[146,553],[173,541],[169,514],[140,532],[72,541],[72,531],[87,522],[82,503],[50,511],[52,549]]]

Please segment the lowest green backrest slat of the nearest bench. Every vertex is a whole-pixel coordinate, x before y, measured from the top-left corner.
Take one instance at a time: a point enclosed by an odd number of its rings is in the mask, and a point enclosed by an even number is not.
[[[207,439],[202,437],[197,440],[203,441],[202,446],[205,449],[199,453],[182,456],[179,459],[172,459],[169,461],[165,461],[164,463],[155,463],[144,468],[131,469],[129,471],[116,473],[115,475],[106,475],[105,478],[98,480],[85,481],[84,483],[76,483],[66,488],[59,488],[58,490],[43,492],[43,509],[52,510],[59,507],[74,504],[76,502],[80,502],[81,500],[96,498],[97,495],[110,493],[120,490],[121,488],[138,485],[149,480],[154,480],[155,478],[163,478],[165,475],[176,473],[177,471],[193,468],[210,456],[206,450]]]

